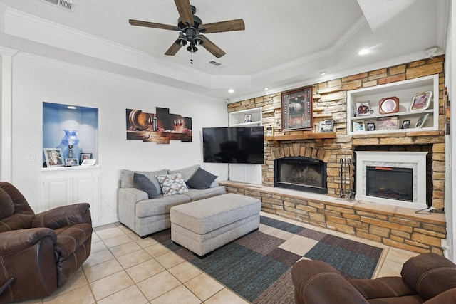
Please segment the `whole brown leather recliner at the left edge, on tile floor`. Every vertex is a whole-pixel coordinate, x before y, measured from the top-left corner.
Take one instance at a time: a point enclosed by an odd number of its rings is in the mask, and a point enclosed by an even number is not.
[[[76,273],[90,255],[89,207],[34,214],[16,187],[0,182],[0,303],[51,295]]]

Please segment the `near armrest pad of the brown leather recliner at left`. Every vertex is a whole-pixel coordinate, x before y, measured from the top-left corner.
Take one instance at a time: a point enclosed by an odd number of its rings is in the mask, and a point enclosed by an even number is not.
[[[24,251],[45,237],[50,237],[53,244],[57,243],[56,233],[49,228],[31,228],[6,231],[0,234],[0,256]]]

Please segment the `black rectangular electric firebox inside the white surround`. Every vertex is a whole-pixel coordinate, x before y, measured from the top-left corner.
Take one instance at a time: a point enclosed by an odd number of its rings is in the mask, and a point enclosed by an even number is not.
[[[413,201],[413,169],[367,166],[366,187],[368,196]]]

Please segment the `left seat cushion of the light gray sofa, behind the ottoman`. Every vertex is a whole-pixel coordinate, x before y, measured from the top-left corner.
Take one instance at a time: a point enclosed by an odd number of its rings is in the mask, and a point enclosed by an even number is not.
[[[160,195],[156,199],[145,199],[136,204],[135,215],[139,218],[169,214],[172,206],[190,203],[187,195]]]

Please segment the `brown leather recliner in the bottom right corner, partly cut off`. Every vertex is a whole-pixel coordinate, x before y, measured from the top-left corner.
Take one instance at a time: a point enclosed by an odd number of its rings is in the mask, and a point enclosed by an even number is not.
[[[327,263],[309,260],[291,269],[296,304],[456,303],[456,265],[447,258],[423,253],[405,262],[400,275],[347,280]]]

